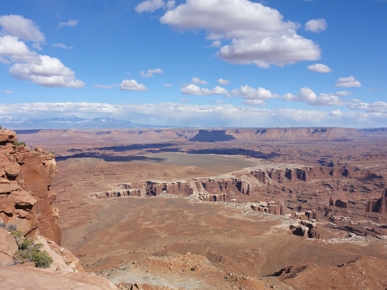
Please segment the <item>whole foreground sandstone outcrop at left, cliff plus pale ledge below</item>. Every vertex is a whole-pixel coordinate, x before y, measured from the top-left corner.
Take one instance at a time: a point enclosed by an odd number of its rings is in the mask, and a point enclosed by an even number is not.
[[[17,244],[0,228],[0,289],[117,289],[109,280],[84,272],[78,259],[60,246],[58,210],[51,205],[55,192],[50,189],[57,172],[55,155],[16,146],[15,141],[14,131],[0,130],[0,222],[16,225],[43,244],[53,263],[46,269],[31,262],[13,265]]]

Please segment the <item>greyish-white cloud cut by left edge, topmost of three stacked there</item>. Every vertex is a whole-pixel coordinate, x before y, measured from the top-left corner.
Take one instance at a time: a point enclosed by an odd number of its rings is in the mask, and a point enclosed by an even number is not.
[[[25,41],[44,42],[45,36],[39,31],[39,27],[30,19],[25,19],[21,15],[0,16],[0,26],[3,27],[1,34],[8,32]]]

